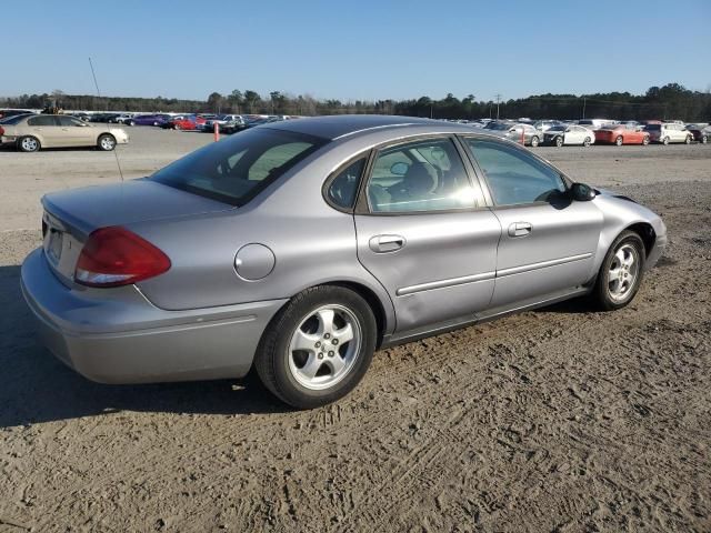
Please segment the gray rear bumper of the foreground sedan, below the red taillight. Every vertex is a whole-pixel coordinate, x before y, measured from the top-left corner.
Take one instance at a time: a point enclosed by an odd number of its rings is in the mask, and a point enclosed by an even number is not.
[[[51,272],[42,250],[24,260],[22,294],[41,342],[101,383],[240,378],[286,300],[164,311],[134,286],[76,290]]]

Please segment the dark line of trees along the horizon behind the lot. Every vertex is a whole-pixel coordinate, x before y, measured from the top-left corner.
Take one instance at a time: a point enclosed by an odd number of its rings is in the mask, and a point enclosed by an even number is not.
[[[212,92],[207,100],[176,98],[126,98],[66,94],[22,94],[0,98],[2,108],[41,109],[58,105],[86,111],[139,111],[182,113],[244,114],[403,114],[433,119],[581,119],[627,120],[678,119],[687,122],[711,121],[711,93],[692,91],[679,83],[650,87],[644,94],[607,92],[594,94],[537,94],[510,100],[481,100],[473,94],[459,99],[452,93],[437,100],[421,97],[409,100],[341,101],[316,99],[309,94],[291,95],[281,91],[259,94],[236,89],[229,94]]]

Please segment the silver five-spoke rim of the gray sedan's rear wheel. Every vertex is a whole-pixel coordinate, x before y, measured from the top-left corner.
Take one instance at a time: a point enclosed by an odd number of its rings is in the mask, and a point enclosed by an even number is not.
[[[329,389],[339,383],[360,356],[362,329],[342,305],[329,304],[307,314],[291,335],[289,371],[302,386]]]

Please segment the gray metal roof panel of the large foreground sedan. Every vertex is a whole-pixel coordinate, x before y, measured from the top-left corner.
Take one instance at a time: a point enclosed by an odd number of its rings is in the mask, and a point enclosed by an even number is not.
[[[385,128],[407,128],[410,125],[429,125],[432,127],[433,130],[437,129],[438,131],[447,132],[472,132],[472,128],[468,124],[421,119],[417,117],[394,117],[385,114],[332,114],[271,122],[269,128],[337,140],[344,137],[368,134],[373,130],[382,130]]]

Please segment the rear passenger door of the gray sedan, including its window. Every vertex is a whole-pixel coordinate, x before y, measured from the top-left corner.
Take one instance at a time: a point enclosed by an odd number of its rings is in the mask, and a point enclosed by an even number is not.
[[[489,305],[501,225],[465,164],[449,137],[372,158],[354,214],[358,259],[392,299],[395,333],[473,319]]]

